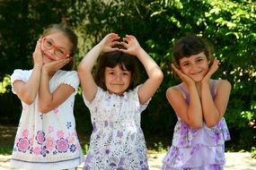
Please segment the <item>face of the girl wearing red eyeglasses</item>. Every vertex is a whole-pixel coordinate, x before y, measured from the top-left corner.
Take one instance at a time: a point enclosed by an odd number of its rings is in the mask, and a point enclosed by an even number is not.
[[[65,59],[71,50],[69,39],[62,32],[51,33],[41,39],[43,63]]]

